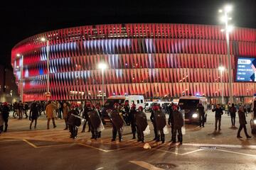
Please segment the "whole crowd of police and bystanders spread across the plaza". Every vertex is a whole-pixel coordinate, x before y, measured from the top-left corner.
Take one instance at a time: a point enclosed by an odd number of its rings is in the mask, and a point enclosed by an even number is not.
[[[205,108],[201,103],[198,104],[199,114],[199,126],[204,128],[205,123]],[[217,104],[212,107],[212,111],[215,112],[215,130],[221,130],[221,117],[226,107]],[[101,132],[104,130],[104,120],[102,118],[102,108],[100,103],[92,104],[91,101],[85,103],[70,103],[69,101],[33,101],[30,106],[28,103],[0,103],[0,132],[6,132],[8,129],[9,112],[13,110],[13,117],[22,119],[23,116],[28,118],[31,122],[29,128],[36,129],[38,117],[41,113],[46,114],[47,129],[50,129],[50,121],[53,123],[53,128],[56,128],[55,119],[59,118],[64,120],[64,130],[70,131],[70,138],[75,139],[78,135],[78,127],[82,124],[82,131],[85,132],[86,125],[88,125],[88,131],[91,132],[91,139],[97,140],[101,137]],[[29,111],[29,112],[28,112]],[[235,106],[232,104],[228,106],[227,114],[230,115],[232,127],[235,127],[235,117],[238,113],[240,127],[238,129],[237,137],[240,138],[240,131],[244,129],[247,138],[250,136],[247,134],[246,129],[246,112],[249,111],[245,106]],[[182,127],[184,125],[183,113],[181,113],[178,105],[171,103],[165,108],[161,108],[159,105],[152,107],[150,120],[154,127],[154,140],[156,142],[165,142],[166,135],[166,114],[169,114],[167,121],[171,128],[171,142],[178,142],[182,144]],[[138,109],[135,104],[129,106],[128,101],[123,105],[114,103],[114,109],[108,113],[112,122],[112,141],[115,141],[117,134],[119,142],[122,141],[122,130],[124,123],[131,126],[132,139],[136,139],[138,142],[144,142],[144,131],[148,127],[146,120],[146,113],[144,108],[140,106]],[[167,130],[168,131],[168,130]]]

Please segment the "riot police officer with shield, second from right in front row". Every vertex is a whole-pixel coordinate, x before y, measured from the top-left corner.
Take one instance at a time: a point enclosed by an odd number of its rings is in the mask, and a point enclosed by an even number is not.
[[[156,123],[156,142],[160,141],[164,143],[164,127],[166,126],[166,115],[161,111],[161,108],[157,106],[156,111],[154,111],[154,118]],[[160,135],[159,135],[160,132]]]

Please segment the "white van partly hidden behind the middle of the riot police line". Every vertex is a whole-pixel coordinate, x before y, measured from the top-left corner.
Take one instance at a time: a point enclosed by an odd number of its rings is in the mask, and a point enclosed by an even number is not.
[[[138,109],[139,106],[145,107],[144,96],[141,95],[127,95],[127,96],[110,96],[107,98],[107,101],[102,108],[102,116],[104,119],[108,118],[108,113],[112,112],[114,109],[114,103],[119,103],[120,105],[124,104],[125,101],[129,102],[129,106],[131,107],[134,103],[136,108]]]

